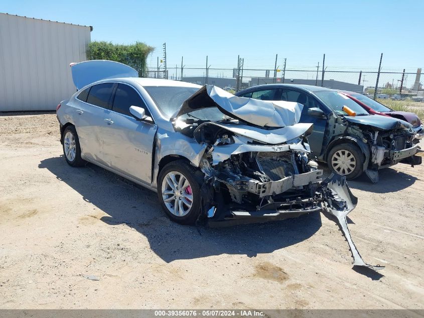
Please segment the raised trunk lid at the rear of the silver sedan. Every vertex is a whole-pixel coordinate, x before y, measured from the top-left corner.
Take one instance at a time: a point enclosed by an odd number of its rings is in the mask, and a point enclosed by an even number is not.
[[[70,66],[72,80],[77,89],[106,78],[138,77],[138,72],[132,67],[108,60],[71,63]]]

